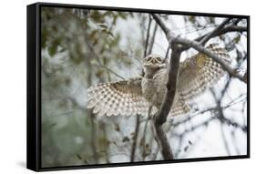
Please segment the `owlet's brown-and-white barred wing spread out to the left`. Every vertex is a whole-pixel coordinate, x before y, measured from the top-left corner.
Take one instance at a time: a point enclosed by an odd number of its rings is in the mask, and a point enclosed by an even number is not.
[[[97,116],[130,116],[148,113],[148,101],[142,96],[141,78],[101,83],[87,89],[87,107]]]

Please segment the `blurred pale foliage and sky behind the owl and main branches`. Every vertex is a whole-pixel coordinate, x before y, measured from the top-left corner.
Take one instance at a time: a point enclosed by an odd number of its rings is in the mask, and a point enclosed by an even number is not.
[[[161,15],[171,31],[202,36],[225,18]],[[247,26],[246,20],[238,25]],[[232,67],[247,69],[247,34],[210,40],[226,47]],[[207,44],[207,45],[208,45]],[[161,160],[147,118],[97,118],[87,110],[87,88],[138,77],[142,57],[171,50],[147,13],[42,7],[42,167]],[[189,49],[181,57],[193,56]],[[247,86],[222,77],[192,104],[189,117],[165,124],[176,159],[247,153]],[[136,143],[135,143],[136,142]]]

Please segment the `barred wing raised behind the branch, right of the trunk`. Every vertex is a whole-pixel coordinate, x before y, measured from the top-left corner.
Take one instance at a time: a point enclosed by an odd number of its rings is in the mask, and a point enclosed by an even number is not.
[[[207,46],[213,54],[230,64],[230,55],[218,44]],[[179,68],[178,93],[184,100],[198,97],[207,87],[211,87],[225,74],[219,63],[202,53],[187,58]]]

